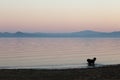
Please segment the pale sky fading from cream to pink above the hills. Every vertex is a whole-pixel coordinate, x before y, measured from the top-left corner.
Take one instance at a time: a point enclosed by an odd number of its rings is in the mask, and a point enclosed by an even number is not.
[[[0,0],[0,32],[120,31],[120,0]]]

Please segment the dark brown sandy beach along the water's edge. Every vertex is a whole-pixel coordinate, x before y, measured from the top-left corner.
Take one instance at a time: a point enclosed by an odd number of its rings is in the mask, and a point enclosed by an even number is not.
[[[0,80],[120,80],[120,65],[87,69],[0,69]]]

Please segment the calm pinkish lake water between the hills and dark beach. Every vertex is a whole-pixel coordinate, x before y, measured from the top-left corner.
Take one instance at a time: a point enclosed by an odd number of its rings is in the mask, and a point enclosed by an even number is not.
[[[86,67],[120,63],[120,38],[0,38],[0,68]]]

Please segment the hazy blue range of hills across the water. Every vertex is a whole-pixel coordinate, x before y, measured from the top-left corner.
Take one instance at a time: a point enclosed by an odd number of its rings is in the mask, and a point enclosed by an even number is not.
[[[97,32],[85,30],[72,33],[24,33],[24,32],[0,32],[0,37],[120,37],[120,31],[116,32]]]

